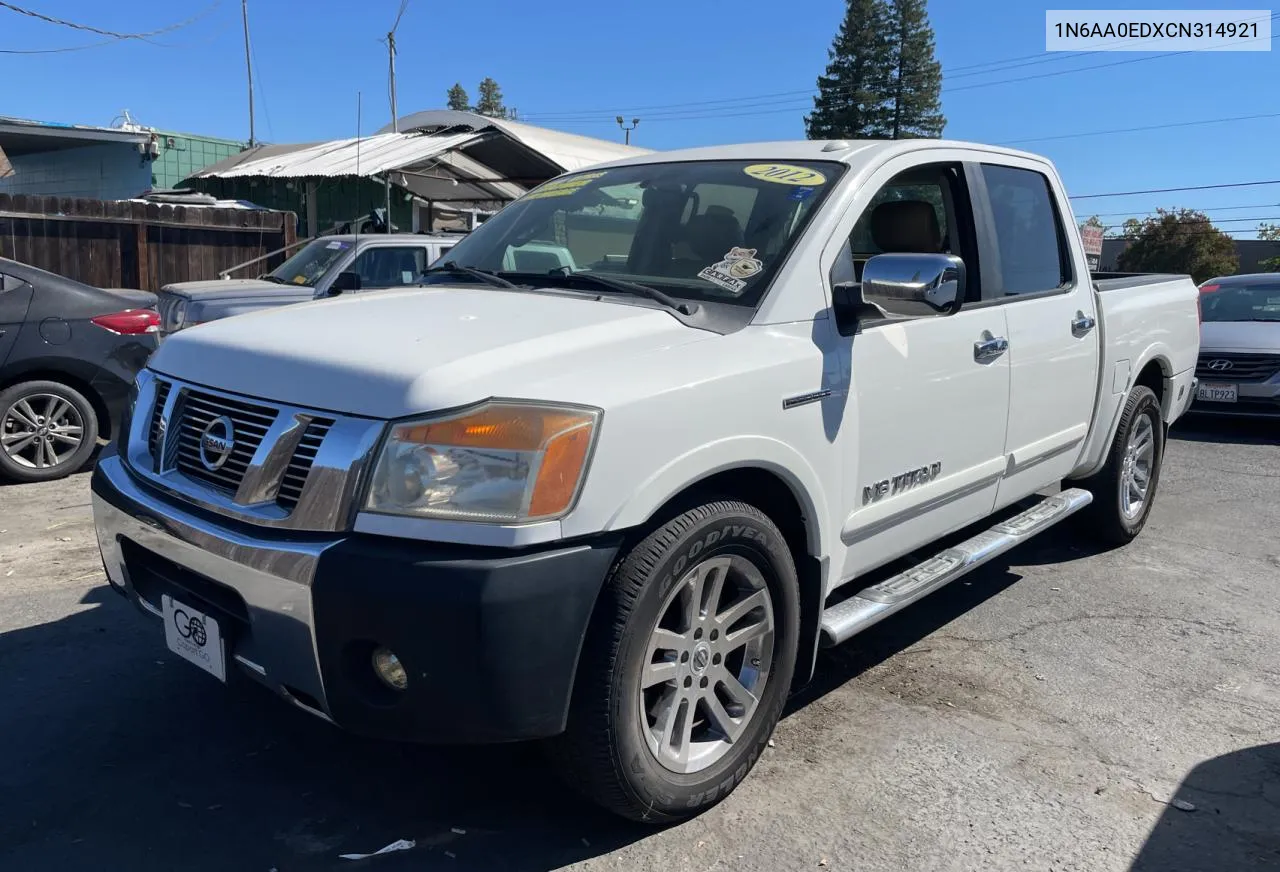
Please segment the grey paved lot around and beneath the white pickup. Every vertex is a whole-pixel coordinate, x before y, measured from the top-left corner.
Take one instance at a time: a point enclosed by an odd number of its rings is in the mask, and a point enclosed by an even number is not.
[[[1180,425],[1137,542],[1050,531],[826,652],[746,782],[663,831],[529,748],[220,688],[105,586],[87,475],[0,487],[0,868],[1280,869],[1277,443]]]

